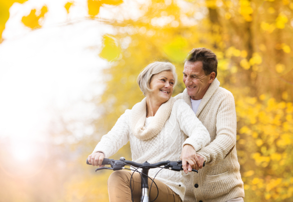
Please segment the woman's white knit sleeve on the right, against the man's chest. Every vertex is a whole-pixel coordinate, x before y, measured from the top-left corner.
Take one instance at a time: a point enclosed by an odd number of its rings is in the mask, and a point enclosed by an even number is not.
[[[182,148],[184,145],[190,144],[195,151],[198,151],[209,144],[209,132],[184,100],[176,102],[178,103],[177,121],[181,130],[188,136]]]

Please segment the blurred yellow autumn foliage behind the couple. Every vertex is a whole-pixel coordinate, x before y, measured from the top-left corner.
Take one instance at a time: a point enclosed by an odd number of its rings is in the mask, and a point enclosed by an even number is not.
[[[0,1],[0,34],[14,2]],[[131,0],[88,0],[88,18],[110,24],[115,35],[103,37],[99,57],[109,61],[105,92],[96,97],[100,116],[93,121],[95,135],[73,144],[49,144],[45,168],[39,177],[11,180],[0,173],[1,202],[108,201],[106,181],[111,172],[94,173],[85,158],[118,117],[143,99],[136,77],[153,61],[169,61],[177,67],[185,88],[184,59],[192,48],[207,47],[218,57],[218,79],[235,98],[237,154],[246,202],[293,200],[293,1],[292,0],[146,0],[136,8],[136,19],[103,19],[101,6],[131,4]],[[64,5],[67,13],[74,1]],[[25,26],[42,27],[49,12],[32,10],[23,16]],[[123,15],[127,11],[119,12]],[[118,15],[118,14],[117,14]],[[72,135],[64,132],[52,138]],[[2,150],[1,157],[4,156]],[[129,145],[112,158],[131,159]],[[40,177],[41,176],[41,177]],[[12,182],[13,181],[13,182]],[[36,186],[38,185],[38,186]],[[13,194],[18,190],[18,195]]]

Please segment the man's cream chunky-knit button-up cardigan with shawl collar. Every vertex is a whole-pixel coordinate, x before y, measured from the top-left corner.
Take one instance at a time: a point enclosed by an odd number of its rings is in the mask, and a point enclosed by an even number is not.
[[[230,91],[219,86],[220,82],[215,79],[196,112],[208,129],[211,142],[197,152],[207,159],[207,164],[198,174],[188,175],[184,202],[227,202],[244,197],[235,147],[237,121],[234,98]],[[185,100],[191,109],[187,90],[175,98]],[[189,138],[185,143],[193,145]]]

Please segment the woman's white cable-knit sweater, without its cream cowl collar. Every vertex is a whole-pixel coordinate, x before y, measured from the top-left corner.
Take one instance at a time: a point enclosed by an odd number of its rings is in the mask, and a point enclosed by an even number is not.
[[[173,104],[171,114],[161,132],[147,140],[138,139],[133,135],[130,117],[131,110],[126,110],[112,130],[102,137],[93,152],[103,152],[105,158],[108,158],[130,141],[133,161],[156,163],[165,160],[180,160],[187,135],[189,136],[188,144],[192,144],[196,151],[210,141],[209,132],[184,100],[177,100]],[[145,127],[152,118],[146,118]],[[159,170],[160,168],[150,169],[148,175],[154,177]],[[163,169],[156,179],[167,184],[182,200],[184,199],[186,187],[181,172]]]

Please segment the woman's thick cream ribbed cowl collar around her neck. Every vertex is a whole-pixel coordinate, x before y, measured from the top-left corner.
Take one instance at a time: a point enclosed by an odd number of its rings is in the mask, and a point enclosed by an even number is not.
[[[169,118],[175,101],[176,99],[171,97],[162,104],[146,128],[144,127],[146,121],[146,97],[135,104],[130,116],[130,128],[133,135],[141,140],[150,139],[158,135]]]

